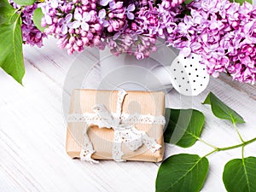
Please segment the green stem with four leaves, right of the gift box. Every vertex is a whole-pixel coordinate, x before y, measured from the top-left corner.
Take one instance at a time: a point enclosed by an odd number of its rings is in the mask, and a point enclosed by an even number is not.
[[[183,148],[189,148],[196,141],[212,148],[208,154],[200,157],[197,154],[175,154],[163,161],[156,179],[156,192],[190,191],[198,192],[203,187],[207,177],[209,163],[207,156],[233,148],[241,149],[241,159],[230,160],[224,166],[223,182],[228,192],[256,191],[256,157],[245,157],[244,148],[247,144],[256,142],[256,137],[243,140],[236,124],[245,123],[239,113],[222,102],[210,92],[203,102],[209,104],[212,113],[219,119],[232,122],[240,142],[236,145],[218,148],[201,138],[205,122],[204,114],[195,109],[166,108],[168,124],[165,131],[165,142],[174,143]],[[170,185],[170,183],[173,183]]]

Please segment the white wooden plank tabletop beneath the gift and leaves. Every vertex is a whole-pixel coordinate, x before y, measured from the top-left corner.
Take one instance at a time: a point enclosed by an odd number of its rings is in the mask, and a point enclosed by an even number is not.
[[[98,165],[91,165],[67,156],[62,94],[67,72],[77,55],[67,55],[51,38],[44,44],[42,49],[24,48],[24,86],[0,72],[0,191],[153,192],[160,164],[102,160]],[[93,60],[93,56],[89,59]],[[215,118],[208,106],[201,105],[209,91],[247,121],[238,126],[244,139],[256,137],[255,86],[231,82],[224,75],[211,79],[200,96],[180,96],[172,90],[166,95],[166,107],[197,108],[205,113],[202,137],[209,143],[218,147],[240,143],[230,122]],[[69,92],[64,91],[63,96],[68,97]],[[186,149],[166,144],[165,156],[204,155],[211,150],[200,142]],[[248,145],[245,154],[256,156],[256,143]],[[225,191],[224,164],[234,158],[241,158],[240,148],[209,156],[210,170],[202,191]]]

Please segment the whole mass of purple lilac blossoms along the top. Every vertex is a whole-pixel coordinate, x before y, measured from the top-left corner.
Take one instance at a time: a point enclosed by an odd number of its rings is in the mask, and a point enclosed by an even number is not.
[[[45,35],[58,39],[68,54],[85,47],[113,55],[126,53],[138,60],[156,51],[156,39],[166,45],[202,56],[214,77],[230,73],[233,79],[256,80],[256,8],[229,0],[44,0],[22,12],[26,44],[42,45]],[[12,3],[15,6],[14,3]],[[44,13],[44,33],[33,26],[33,10]]]

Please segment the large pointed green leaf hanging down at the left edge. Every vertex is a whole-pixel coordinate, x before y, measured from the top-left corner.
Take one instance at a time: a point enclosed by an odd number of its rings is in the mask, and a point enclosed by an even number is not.
[[[20,15],[15,14],[14,22],[0,25],[0,67],[22,84],[25,68],[20,23]]]

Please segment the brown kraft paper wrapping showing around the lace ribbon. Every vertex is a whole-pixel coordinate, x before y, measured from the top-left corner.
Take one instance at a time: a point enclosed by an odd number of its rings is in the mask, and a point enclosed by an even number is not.
[[[122,112],[151,114],[154,116],[165,115],[165,95],[163,92],[126,91]],[[102,103],[109,112],[116,111],[117,90],[73,90],[69,113],[94,113],[93,106]],[[79,158],[83,143],[85,123],[67,124],[67,154],[72,158]],[[123,160],[142,160],[159,162],[163,159],[164,140],[163,125],[135,125],[137,130],[145,131],[148,137],[153,137],[162,147],[154,153],[143,144],[142,147],[131,151],[122,143]],[[88,131],[90,142],[96,151],[92,154],[95,160],[112,160],[113,129],[99,129],[92,125]]]

